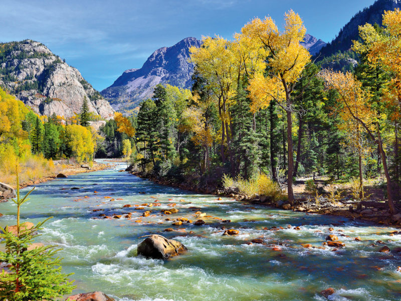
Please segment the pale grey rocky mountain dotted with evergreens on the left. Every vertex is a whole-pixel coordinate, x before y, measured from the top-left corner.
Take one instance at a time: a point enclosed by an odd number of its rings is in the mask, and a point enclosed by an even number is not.
[[[0,44],[0,85],[36,113],[72,117],[84,97],[89,111],[110,119],[114,110],[74,67],[32,40]]]

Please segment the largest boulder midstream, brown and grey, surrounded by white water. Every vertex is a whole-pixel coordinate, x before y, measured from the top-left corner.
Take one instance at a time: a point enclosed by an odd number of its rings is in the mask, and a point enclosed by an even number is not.
[[[153,234],[138,244],[138,255],[153,259],[167,259],[186,251],[186,247],[179,241],[167,239],[164,236]]]

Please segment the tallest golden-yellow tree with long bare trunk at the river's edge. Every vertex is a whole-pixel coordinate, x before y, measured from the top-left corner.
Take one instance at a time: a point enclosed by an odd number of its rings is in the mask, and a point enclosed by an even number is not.
[[[291,10],[285,14],[284,31],[279,31],[273,19],[266,17],[264,20],[253,19],[242,28],[241,32],[254,45],[267,51],[265,68],[258,68],[259,70],[252,76],[248,87],[252,99],[252,111],[266,108],[274,100],[286,112],[288,200],[290,204],[293,204],[292,113],[294,99],[291,94],[302,71],[310,62],[311,55],[300,44],[304,40],[306,28],[299,15]]]

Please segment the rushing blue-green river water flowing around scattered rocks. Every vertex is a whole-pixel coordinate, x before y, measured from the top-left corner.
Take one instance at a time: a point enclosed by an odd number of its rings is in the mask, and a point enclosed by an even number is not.
[[[396,271],[401,253],[379,253],[382,244],[370,246],[377,240],[390,249],[400,246],[401,234],[389,236],[396,229],[195,195],[118,172],[125,167],[117,164],[39,184],[22,209],[24,221],[54,217],[38,240],[63,247],[63,269],[75,273],[75,293],[101,290],[120,301],[325,300],[320,291],[333,287],[331,300],[401,299],[401,273]],[[156,200],[160,207],[123,208]],[[170,203],[176,203],[179,212],[161,215]],[[205,225],[172,226],[165,221],[196,220],[193,207],[212,216],[204,218]],[[153,210],[151,216],[142,217],[145,210]],[[12,202],[0,204],[0,212],[5,215],[0,226],[16,223]],[[132,219],[99,217],[123,212],[133,212]],[[240,234],[222,236],[222,226]],[[265,229],[273,226],[284,229]],[[163,232],[165,228],[176,231]],[[139,237],[152,233],[179,240],[188,251],[166,261],[136,257],[137,244],[144,239]],[[336,234],[345,248],[332,251],[301,245],[322,247],[328,234]],[[362,241],[355,241],[356,236]],[[254,238],[262,238],[265,244],[248,244]]]

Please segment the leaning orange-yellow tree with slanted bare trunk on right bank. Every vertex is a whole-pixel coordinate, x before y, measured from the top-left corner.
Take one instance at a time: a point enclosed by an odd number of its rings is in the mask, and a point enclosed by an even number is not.
[[[347,117],[345,118],[353,118],[377,144],[387,181],[388,207],[391,213],[395,213],[394,185],[387,168],[386,154],[383,148],[379,123],[369,104],[369,94],[362,89],[361,82],[350,72],[344,74],[341,72],[324,70],[321,76],[325,80],[327,88],[334,89],[338,92],[340,104],[343,106],[344,112],[347,112],[345,115]]]

